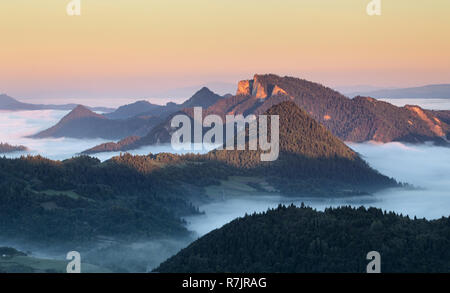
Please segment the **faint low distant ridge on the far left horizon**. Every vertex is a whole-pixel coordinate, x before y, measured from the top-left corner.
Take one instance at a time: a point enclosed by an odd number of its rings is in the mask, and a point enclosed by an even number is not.
[[[45,104],[29,104],[22,103],[18,100],[7,96],[0,95],[0,110],[6,111],[26,111],[26,110],[72,110],[76,108],[77,104],[64,104],[64,105],[45,105]],[[92,111],[97,112],[111,112],[113,108],[108,107],[88,107]]]

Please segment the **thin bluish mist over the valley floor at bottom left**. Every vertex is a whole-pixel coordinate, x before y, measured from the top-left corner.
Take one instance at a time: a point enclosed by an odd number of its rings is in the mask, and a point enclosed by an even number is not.
[[[195,239],[194,235],[134,241],[102,239],[80,247],[57,243],[44,245],[0,238],[0,247],[15,248],[39,261],[57,260],[63,263],[68,263],[66,256],[69,251],[77,251],[81,256],[81,272],[146,273],[151,272]],[[83,267],[87,266],[89,270],[83,270]]]

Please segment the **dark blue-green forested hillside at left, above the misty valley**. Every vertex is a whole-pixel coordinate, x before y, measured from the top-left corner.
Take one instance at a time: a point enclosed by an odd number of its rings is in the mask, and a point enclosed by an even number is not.
[[[165,164],[154,158],[155,170]],[[176,179],[119,160],[0,159],[0,236],[39,242],[99,235],[187,235],[180,216],[196,213]]]

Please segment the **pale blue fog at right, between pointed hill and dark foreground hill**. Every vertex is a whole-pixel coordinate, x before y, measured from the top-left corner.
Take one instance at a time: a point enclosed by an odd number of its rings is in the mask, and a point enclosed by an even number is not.
[[[199,236],[246,213],[263,212],[277,205],[305,203],[318,210],[351,205],[378,207],[410,217],[436,219],[450,216],[450,148],[402,143],[348,145],[376,170],[409,183],[414,189],[388,189],[374,195],[349,198],[248,196],[205,204],[205,214],[188,217],[188,228]]]

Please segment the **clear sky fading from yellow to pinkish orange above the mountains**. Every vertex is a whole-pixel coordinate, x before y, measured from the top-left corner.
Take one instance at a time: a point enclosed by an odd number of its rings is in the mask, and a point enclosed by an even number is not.
[[[380,16],[367,15],[369,0],[81,0],[79,16],[69,2],[0,1],[0,93],[95,104],[224,93],[255,73],[450,83],[448,0],[381,0]]]

